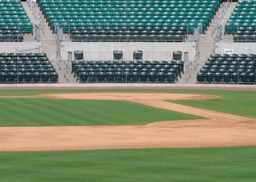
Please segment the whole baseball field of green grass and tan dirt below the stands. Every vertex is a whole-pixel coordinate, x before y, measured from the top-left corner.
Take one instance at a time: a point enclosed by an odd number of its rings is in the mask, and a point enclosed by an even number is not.
[[[0,181],[255,181],[255,90],[0,90]]]

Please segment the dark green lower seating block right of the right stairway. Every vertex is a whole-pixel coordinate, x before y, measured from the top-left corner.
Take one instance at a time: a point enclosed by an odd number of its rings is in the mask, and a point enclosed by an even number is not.
[[[212,54],[197,74],[197,83],[255,84],[256,55]]]

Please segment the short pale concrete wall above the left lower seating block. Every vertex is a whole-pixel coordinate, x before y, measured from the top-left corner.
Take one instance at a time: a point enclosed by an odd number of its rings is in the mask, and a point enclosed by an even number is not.
[[[0,43],[0,52],[17,52],[17,50],[29,50],[41,48],[41,42],[1,42]],[[18,48],[18,49],[17,49]]]

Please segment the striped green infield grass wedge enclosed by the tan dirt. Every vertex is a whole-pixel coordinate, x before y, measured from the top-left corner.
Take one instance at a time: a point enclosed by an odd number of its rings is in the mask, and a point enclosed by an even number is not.
[[[0,98],[0,126],[138,125],[203,119],[124,100]]]

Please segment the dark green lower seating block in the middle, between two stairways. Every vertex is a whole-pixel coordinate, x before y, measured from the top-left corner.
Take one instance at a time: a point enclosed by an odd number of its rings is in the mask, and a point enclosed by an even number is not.
[[[79,82],[174,83],[184,74],[183,68],[183,61],[72,61],[72,74]]]

